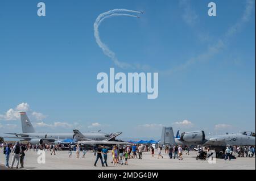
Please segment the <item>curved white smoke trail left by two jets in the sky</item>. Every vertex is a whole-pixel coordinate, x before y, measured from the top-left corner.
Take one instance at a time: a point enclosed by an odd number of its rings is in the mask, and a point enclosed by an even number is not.
[[[118,12],[120,12],[120,13],[118,13]],[[96,39],[96,42],[97,42],[98,46],[102,49],[103,53],[106,56],[110,57],[115,65],[117,65],[119,68],[122,68],[122,69],[127,69],[127,68],[134,69],[134,66],[132,66],[130,64],[127,64],[125,62],[120,62],[118,60],[118,58],[115,56],[115,53],[112,50],[110,50],[107,45],[102,43],[102,41],[100,39],[100,33],[98,31],[98,27],[100,26],[100,24],[105,19],[111,18],[113,16],[130,16],[130,17],[133,17],[133,18],[138,18],[138,16],[130,15],[130,14],[124,14],[122,12],[132,12],[132,13],[141,14],[140,11],[126,10],[126,9],[114,9],[114,10],[110,10],[108,12],[104,12],[104,13],[100,14],[97,17],[96,21],[94,22],[94,37]]]

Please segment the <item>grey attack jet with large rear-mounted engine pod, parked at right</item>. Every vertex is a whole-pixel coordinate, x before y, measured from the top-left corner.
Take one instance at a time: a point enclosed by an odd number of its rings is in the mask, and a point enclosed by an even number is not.
[[[216,136],[205,136],[204,131],[184,132],[180,137],[174,137],[172,127],[163,127],[162,145],[202,145],[214,149],[224,146],[255,146],[255,133],[242,132],[235,134],[221,134]]]

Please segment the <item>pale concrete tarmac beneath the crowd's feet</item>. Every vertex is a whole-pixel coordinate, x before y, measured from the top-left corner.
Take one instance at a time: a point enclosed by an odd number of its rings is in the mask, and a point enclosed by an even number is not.
[[[156,151],[157,152],[157,151]],[[216,159],[216,163],[209,163],[207,161],[197,161],[196,151],[190,151],[189,155],[183,153],[183,160],[170,159],[168,154],[164,154],[163,159],[158,159],[157,153],[155,158],[151,158],[151,154],[143,153],[142,159],[128,159],[128,165],[117,165],[114,166],[112,163],[112,155],[108,154],[108,167],[102,167],[100,159],[98,160],[97,167],[94,167],[96,157],[92,151],[88,151],[85,158],[82,158],[82,152],[80,158],[76,158],[76,152],[73,151],[72,158],[68,158],[68,151],[56,151],[56,155],[51,155],[49,151],[45,151],[46,163],[38,163],[38,157],[36,151],[26,151],[24,158],[24,169],[25,170],[255,170],[255,157],[253,158],[240,158],[232,159],[231,161],[225,161],[224,159]],[[9,165],[11,163],[12,156],[10,155]],[[40,160],[39,160],[40,161]],[[213,160],[214,161],[214,160]],[[0,169],[3,169],[5,163],[5,155],[2,149],[0,149]]]

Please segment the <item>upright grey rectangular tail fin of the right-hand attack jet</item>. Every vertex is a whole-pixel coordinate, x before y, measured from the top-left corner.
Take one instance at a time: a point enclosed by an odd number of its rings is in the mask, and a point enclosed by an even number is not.
[[[163,127],[160,145],[175,145],[174,131],[172,127]]]

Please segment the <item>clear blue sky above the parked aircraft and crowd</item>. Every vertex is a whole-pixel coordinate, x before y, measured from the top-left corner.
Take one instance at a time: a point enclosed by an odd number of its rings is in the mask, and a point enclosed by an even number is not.
[[[255,1],[213,1],[216,17],[210,1],[45,0],[45,17],[39,2],[0,2],[0,134],[21,132],[20,107],[39,132],[255,131]],[[158,99],[97,92],[100,72],[141,71],[118,68],[95,41],[94,21],[113,9],[144,11],[99,31],[120,61],[159,73]]]

